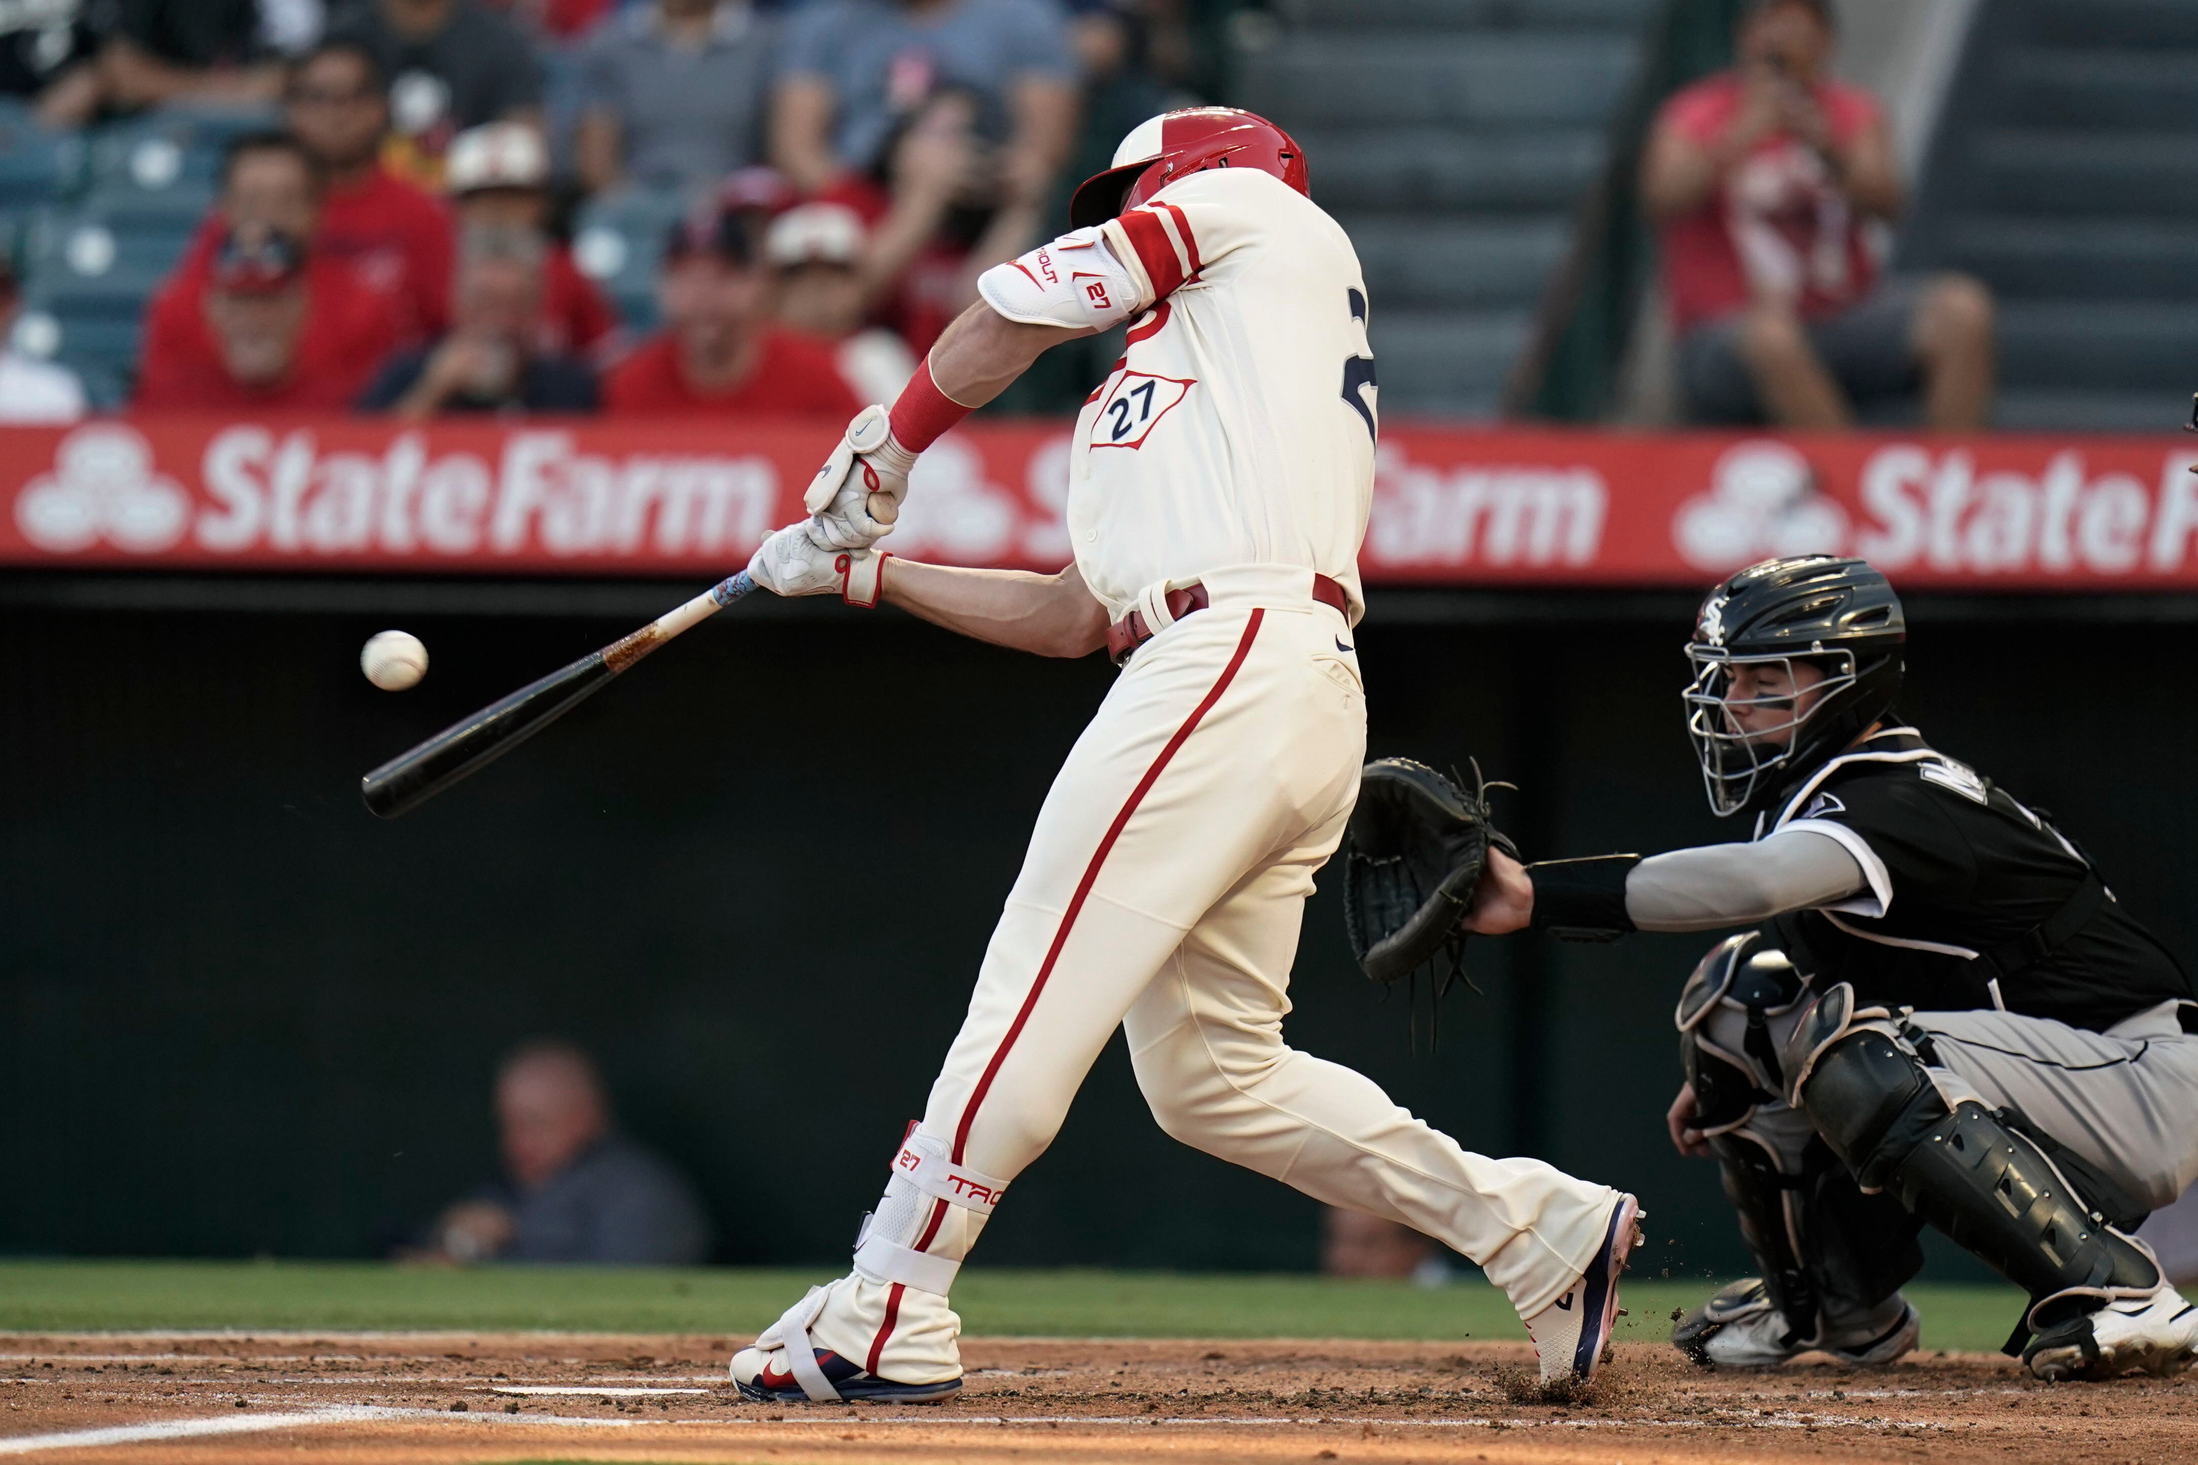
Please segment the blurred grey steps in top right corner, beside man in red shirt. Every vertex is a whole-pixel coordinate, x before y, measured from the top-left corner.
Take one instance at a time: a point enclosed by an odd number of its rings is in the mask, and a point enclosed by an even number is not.
[[[2198,7],[2000,0],[1917,187],[1899,268],[2000,305],[1996,420],[2174,426],[2198,384]]]

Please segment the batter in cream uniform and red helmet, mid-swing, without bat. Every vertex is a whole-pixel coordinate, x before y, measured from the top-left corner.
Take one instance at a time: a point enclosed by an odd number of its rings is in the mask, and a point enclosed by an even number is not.
[[[1354,569],[1374,481],[1367,294],[1279,127],[1222,108],[1136,127],[1079,228],[989,270],[892,411],[848,426],[813,516],[750,564],[780,595],[888,600],[1040,655],[1123,668],[1046,795],[923,1118],[848,1276],[732,1360],[750,1399],[961,1388],[947,1296],[1011,1182],[1125,1028],[1161,1127],[1481,1263],[1550,1379],[1602,1362],[1631,1195],[1486,1160],[1372,1081],[1281,1041],[1297,931],[1365,756]],[[1057,575],[873,549],[914,457],[1040,351],[1117,323],[1077,417]]]

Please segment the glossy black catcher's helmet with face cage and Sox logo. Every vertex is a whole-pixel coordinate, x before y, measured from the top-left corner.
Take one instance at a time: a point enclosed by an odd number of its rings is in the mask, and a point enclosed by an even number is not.
[[[1767,808],[1886,716],[1901,690],[1908,617],[1892,584],[1864,560],[1829,553],[1750,564],[1710,591],[1695,617],[1681,694],[1686,731],[1717,817]],[[1807,709],[1798,696],[1730,696],[1734,666],[1813,661],[1824,679]],[[1791,716],[1743,731],[1734,705]],[[1785,734],[1785,742],[1772,742]]]

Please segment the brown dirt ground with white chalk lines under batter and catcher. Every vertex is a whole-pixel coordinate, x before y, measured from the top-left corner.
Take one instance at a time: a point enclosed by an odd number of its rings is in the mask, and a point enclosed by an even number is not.
[[[1644,1329],[1646,1331],[1646,1329]],[[2198,1382],[2044,1386],[1932,1355],[1710,1375],[1627,1344],[1596,1397],[1525,1399],[1523,1346],[963,1342],[930,1408],[780,1408],[734,1338],[582,1333],[0,1335],[0,1456],[341,1461],[1655,1461],[2198,1458]]]

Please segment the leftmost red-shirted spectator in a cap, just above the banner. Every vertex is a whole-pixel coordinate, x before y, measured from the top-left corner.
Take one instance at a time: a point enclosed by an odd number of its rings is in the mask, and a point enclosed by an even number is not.
[[[341,266],[310,268],[292,235],[229,231],[202,290],[145,325],[141,411],[338,411],[387,349],[380,301]]]

